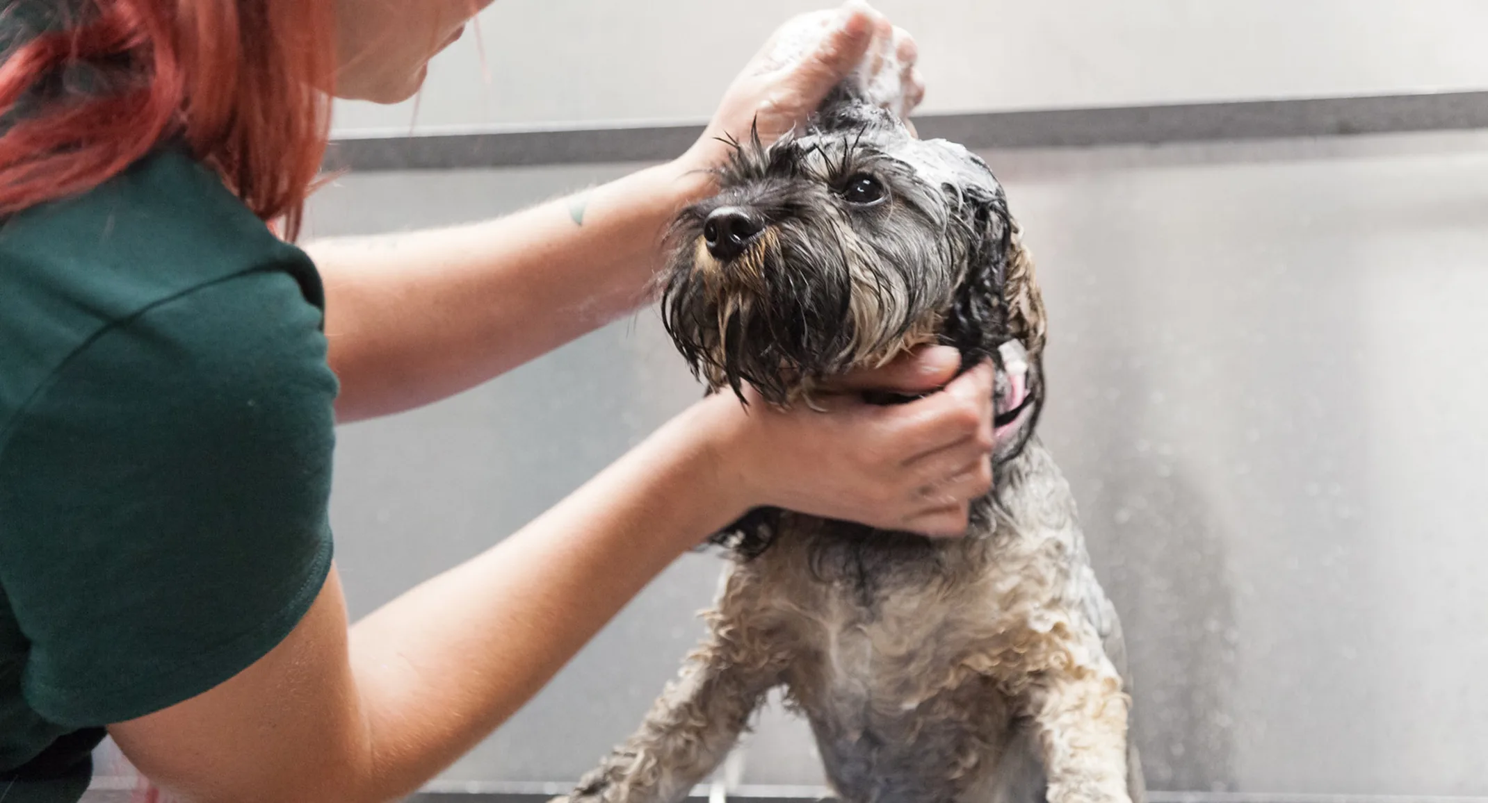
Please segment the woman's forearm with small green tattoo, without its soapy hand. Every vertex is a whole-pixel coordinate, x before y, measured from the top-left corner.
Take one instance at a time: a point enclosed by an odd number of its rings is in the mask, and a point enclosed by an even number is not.
[[[708,186],[670,162],[485,223],[310,244],[339,418],[467,390],[644,303],[667,225]]]

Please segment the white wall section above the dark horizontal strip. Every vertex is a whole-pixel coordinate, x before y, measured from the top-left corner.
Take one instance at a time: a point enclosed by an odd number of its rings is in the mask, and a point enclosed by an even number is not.
[[[830,0],[498,0],[432,67],[418,129],[698,120],[765,36]],[[926,112],[1488,88],[1481,0],[879,0]],[[475,31],[470,31],[472,34]],[[412,104],[338,109],[406,132]]]

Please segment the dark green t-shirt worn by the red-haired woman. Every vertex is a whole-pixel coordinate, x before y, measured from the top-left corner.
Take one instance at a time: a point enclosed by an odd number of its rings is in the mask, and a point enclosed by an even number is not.
[[[278,644],[330,567],[323,293],[173,149],[0,219],[0,799]]]

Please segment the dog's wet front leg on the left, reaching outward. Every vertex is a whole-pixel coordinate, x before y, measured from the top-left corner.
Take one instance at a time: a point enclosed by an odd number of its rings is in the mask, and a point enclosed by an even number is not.
[[[729,632],[729,631],[725,631]],[[780,672],[735,641],[710,635],[615,748],[567,799],[571,803],[676,803],[728,757]]]

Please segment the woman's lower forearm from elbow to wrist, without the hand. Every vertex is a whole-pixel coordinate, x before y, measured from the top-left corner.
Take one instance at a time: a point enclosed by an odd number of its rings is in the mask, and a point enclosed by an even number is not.
[[[411,791],[510,717],[641,587],[743,512],[695,406],[487,553],[351,629],[371,785]]]

